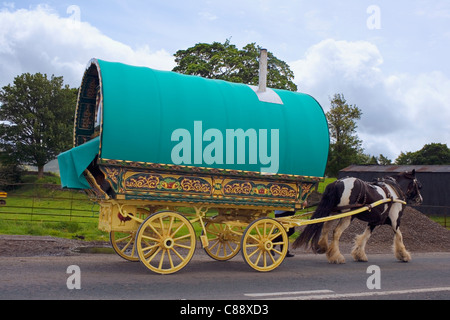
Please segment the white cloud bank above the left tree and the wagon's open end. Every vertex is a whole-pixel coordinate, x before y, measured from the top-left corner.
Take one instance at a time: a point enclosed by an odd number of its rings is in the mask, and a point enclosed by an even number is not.
[[[91,58],[161,70],[175,66],[163,49],[131,48],[89,23],[62,18],[47,6],[0,11],[0,86],[24,72],[63,75],[66,83],[78,86]]]

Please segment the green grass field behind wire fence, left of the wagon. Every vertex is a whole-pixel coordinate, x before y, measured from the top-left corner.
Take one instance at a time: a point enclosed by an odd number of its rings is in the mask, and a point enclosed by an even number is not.
[[[0,234],[108,240],[97,229],[98,205],[84,192],[58,188],[59,177],[25,176],[0,206]]]

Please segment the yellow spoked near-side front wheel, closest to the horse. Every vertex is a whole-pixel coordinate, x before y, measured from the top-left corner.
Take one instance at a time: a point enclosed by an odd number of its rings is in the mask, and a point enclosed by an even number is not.
[[[287,250],[286,230],[278,221],[270,218],[252,222],[241,240],[244,261],[251,268],[261,272],[277,268],[286,257]]]

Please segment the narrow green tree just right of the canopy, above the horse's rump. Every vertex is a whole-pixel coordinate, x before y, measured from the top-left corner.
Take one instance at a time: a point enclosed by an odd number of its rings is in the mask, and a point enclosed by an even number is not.
[[[361,162],[362,141],[356,135],[356,120],[362,112],[356,105],[349,105],[343,94],[335,94],[330,101],[331,109],[326,114],[331,140],[327,175],[337,176],[340,169]]]

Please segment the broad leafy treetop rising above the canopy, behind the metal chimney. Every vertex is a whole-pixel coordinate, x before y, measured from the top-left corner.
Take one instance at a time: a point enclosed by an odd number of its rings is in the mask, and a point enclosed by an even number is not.
[[[173,71],[209,79],[258,85],[260,50],[261,47],[255,43],[250,43],[239,50],[230,44],[229,40],[224,43],[198,43],[174,54],[177,66]],[[297,91],[297,86],[292,81],[294,73],[289,65],[271,52],[267,55],[267,86]]]

